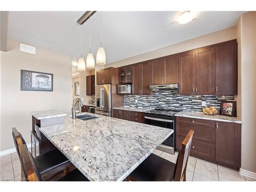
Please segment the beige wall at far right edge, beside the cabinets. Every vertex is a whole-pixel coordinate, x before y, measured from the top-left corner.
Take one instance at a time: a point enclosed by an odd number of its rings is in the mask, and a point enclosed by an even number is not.
[[[256,173],[256,12],[242,14],[238,28],[241,51],[241,168]]]

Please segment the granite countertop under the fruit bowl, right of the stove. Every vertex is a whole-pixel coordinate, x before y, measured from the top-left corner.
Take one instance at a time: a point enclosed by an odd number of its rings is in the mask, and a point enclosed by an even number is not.
[[[191,111],[182,111],[175,116],[179,117],[190,117],[190,118],[197,118],[197,119],[207,119],[207,120],[214,120],[214,121],[225,121],[225,122],[232,122],[232,123],[242,123],[241,120],[235,117],[228,117],[224,115],[206,115],[203,112],[191,112]]]

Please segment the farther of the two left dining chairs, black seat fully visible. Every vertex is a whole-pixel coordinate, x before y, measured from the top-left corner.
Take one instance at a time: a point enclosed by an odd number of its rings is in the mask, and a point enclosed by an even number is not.
[[[27,147],[26,142],[15,127],[12,128],[12,137],[21,163],[20,147],[24,144]],[[61,172],[66,172],[66,169],[73,165],[57,148],[47,153],[37,155],[34,161],[37,164],[41,179],[44,181],[49,179],[54,180],[54,176]],[[21,176],[23,178],[24,172],[22,169],[23,167],[21,166]]]

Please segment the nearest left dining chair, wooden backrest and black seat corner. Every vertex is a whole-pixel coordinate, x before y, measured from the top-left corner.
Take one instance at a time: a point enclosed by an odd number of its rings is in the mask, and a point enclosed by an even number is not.
[[[20,146],[20,162],[22,164],[24,181],[42,181],[40,170],[26,144]],[[77,168],[58,181],[89,181]]]

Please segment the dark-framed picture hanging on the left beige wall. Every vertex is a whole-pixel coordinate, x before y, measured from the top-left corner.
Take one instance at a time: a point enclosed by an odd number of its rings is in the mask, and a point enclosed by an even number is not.
[[[53,91],[53,74],[20,70],[20,91]]]

